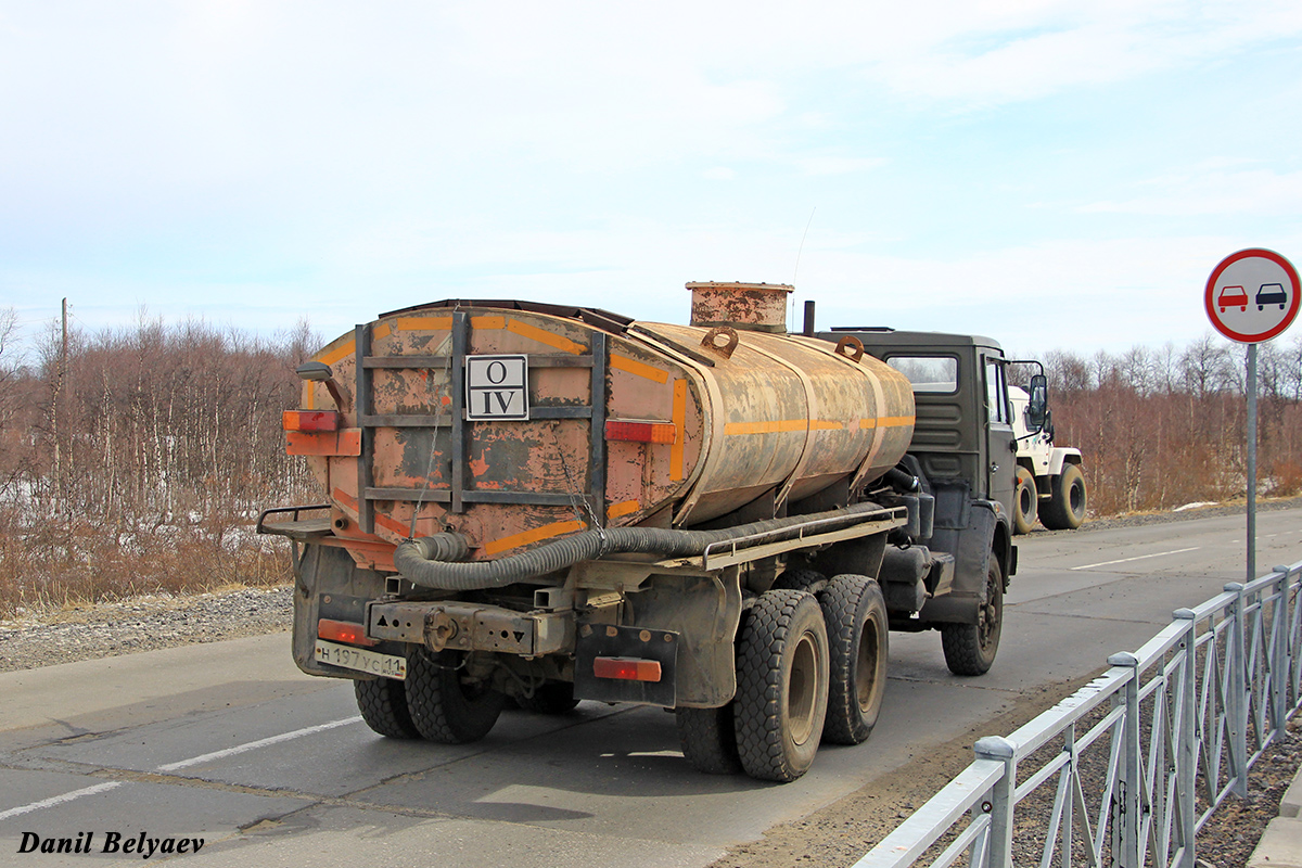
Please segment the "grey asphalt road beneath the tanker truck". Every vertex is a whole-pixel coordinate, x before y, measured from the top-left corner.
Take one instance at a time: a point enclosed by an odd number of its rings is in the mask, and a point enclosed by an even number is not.
[[[1302,560],[1302,509],[1260,513],[1258,534],[1262,570]],[[872,739],[823,748],[785,786],[693,772],[672,714],[648,708],[508,712],[460,747],[387,740],[349,683],[298,673],[285,634],[4,673],[0,863],[132,861],[154,841],[148,864],[706,865],[932,746],[996,734],[982,725],[1018,704],[1053,704],[1245,578],[1242,517],[1018,545],[995,669],[954,678],[937,634],[893,634]],[[89,852],[18,855],[36,839],[85,848],[87,833]],[[124,852],[141,841],[146,854]]]

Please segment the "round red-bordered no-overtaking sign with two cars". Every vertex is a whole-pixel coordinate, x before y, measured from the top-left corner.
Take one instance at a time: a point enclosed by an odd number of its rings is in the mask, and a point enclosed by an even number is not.
[[[1240,344],[1268,341],[1293,323],[1302,301],[1298,272],[1273,250],[1240,250],[1207,278],[1203,306],[1216,331]]]

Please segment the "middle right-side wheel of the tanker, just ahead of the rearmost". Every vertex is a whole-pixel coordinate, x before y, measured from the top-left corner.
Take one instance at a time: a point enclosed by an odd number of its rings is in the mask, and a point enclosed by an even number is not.
[[[823,740],[858,744],[872,734],[887,688],[887,604],[881,586],[862,575],[833,578],[818,601],[831,662]]]

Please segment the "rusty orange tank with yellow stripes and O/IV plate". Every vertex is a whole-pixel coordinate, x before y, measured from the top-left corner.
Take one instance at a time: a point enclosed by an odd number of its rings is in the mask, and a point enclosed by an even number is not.
[[[900,461],[902,375],[853,338],[788,334],[789,286],[689,289],[691,325],[449,301],[331,342],[301,368],[286,437],[333,537],[378,570],[440,534],[488,561],[589,528],[846,506]]]

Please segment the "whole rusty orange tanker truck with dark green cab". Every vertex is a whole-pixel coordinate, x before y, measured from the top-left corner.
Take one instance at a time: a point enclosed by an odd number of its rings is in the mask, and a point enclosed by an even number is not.
[[[293,541],[298,666],[353,679],[376,733],[642,703],[695,768],[792,781],[871,733],[889,630],[991,666],[1016,569],[999,346],[816,334],[811,305],[790,334],[790,286],[687,288],[690,325],[444,301],[298,368],[288,450],[323,502],[258,528]]]

